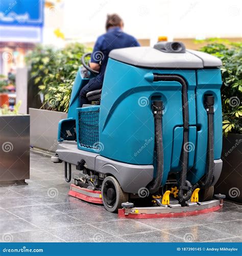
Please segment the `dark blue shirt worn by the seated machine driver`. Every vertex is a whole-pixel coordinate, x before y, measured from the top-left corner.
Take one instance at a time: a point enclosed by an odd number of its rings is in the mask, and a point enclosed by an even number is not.
[[[139,42],[131,35],[124,33],[119,27],[110,28],[107,33],[98,37],[91,54],[91,62],[102,63],[100,73],[96,77],[100,81],[104,79],[108,55],[111,50],[140,46]]]

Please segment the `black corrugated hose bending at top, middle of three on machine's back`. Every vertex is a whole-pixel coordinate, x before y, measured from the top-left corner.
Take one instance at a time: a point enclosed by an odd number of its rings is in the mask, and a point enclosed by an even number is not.
[[[184,80],[184,78],[179,75],[154,74],[154,81],[177,81],[181,83],[181,86],[182,86],[183,144],[182,144],[182,153],[181,153],[181,173],[180,173],[178,199],[181,205],[184,206],[185,202],[189,200],[192,195],[191,183],[186,180],[187,166],[188,166],[188,151],[186,150],[186,146],[188,144],[188,129],[189,129],[187,83]],[[158,164],[158,159],[157,159],[157,164]],[[157,173],[158,173],[158,168],[157,168]]]

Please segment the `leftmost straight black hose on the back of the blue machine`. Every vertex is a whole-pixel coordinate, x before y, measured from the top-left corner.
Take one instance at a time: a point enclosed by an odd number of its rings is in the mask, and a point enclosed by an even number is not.
[[[151,194],[156,193],[160,188],[160,183],[163,178],[163,139],[162,139],[162,116],[163,116],[163,102],[153,102],[153,113],[155,118],[155,144],[156,144],[156,178],[149,186]]]

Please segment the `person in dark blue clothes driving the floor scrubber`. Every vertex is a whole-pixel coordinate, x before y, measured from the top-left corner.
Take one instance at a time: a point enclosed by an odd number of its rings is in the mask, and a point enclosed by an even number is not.
[[[95,42],[89,66],[99,74],[80,91],[80,107],[89,103],[86,97],[88,92],[102,89],[104,73],[108,62],[108,55],[111,50],[140,46],[139,42],[131,35],[123,32],[124,22],[117,14],[107,16],[106,33],[99,36]]]

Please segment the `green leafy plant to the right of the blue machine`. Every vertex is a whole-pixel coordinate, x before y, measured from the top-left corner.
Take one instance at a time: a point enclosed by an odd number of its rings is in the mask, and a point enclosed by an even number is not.
[[[230,43],[228,46],[221,42],[213,42],[202,47],[200,51],[219,57],[223,62],[221,68],[223,132],[226,136],[228,133],[241,134],[242,43]]]

